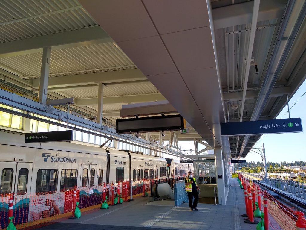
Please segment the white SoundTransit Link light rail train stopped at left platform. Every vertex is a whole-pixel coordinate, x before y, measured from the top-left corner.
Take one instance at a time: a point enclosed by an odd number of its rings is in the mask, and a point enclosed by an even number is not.
[[[14,224],[21,224],[71,210],[65,207],[65,196],[74,186],[82,208],[101,202],[104,182],[116,186],[131,180],[134,185],[192,171],[192,163],[173,159],[68,142],[25,144],[24,138],[0,132],[0,228],[7,224],[10,193]],[[46,211],[50,200],[53,213]]]

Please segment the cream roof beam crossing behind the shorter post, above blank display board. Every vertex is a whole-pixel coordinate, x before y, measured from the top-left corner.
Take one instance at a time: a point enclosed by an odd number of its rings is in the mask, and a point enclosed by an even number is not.
[[[166,100],[161,93],[103,97],[103,104],[155,102]],[[98,98],[74,99],[76,106],[97,105]]]

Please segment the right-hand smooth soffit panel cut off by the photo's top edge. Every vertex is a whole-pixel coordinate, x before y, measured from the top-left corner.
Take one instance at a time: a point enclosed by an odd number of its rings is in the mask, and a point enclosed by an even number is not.
[[[144,0],[159,34],[209,26],[206,1]],[[188,13],[186,13],[188,12]],[[190,14],[193,17],[190,17]]]

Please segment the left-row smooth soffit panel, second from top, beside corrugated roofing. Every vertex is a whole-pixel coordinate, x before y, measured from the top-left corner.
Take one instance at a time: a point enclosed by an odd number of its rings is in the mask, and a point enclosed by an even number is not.
[[[146,76],[177,71],[159,36],[123,41],[117,44],[129,54],[136,66],[141,66],[141,71]]]

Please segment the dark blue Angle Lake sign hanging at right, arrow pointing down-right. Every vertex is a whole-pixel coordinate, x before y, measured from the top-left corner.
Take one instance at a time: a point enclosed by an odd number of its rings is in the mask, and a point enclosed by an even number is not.
[[[221,123],[221,136],[303,132],[301,118]]]

